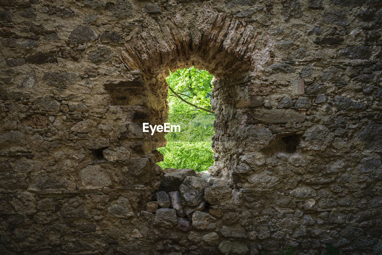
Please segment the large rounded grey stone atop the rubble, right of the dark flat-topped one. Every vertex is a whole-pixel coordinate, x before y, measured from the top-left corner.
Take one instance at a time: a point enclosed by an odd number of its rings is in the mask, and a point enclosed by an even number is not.
[[[204,188],[209,187],[209,183],[201,178],[188,176],[179,187],[180,201],[184,205],[196,206],[204,195]]]

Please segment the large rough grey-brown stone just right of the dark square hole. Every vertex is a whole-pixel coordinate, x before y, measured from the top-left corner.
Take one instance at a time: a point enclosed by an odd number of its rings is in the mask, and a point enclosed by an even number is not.
[[[301,149],[324,150],[332,143],[334,134],[327,127],[316,124],[306,129],[303,138]]]

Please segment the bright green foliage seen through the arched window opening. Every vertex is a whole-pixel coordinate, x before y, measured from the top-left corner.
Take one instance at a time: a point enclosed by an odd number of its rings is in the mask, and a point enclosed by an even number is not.
[[[194,67],[170,72],[167,83],[184,100],[210,110],[212,78],[206,70]],[[168,91],[168,122],[181,126],[181,132],[165,135],[166,147],[158,150],[164,159],[158,165],[162,168],[194,168],[196,172],[206,171],[213,165],[211,136],[214,134],[214,114],[186,104]]]

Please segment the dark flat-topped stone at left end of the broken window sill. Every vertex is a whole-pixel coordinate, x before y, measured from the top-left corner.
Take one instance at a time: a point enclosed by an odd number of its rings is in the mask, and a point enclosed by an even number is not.
[[[191,168],[165,168],[160,176],[160,186],[167,192],[179,191],[179,186],[187,176],[195,176],[195,170]]]

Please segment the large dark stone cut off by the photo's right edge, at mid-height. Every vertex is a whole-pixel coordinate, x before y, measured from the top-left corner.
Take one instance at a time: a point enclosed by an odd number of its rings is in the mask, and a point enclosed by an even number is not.
[[[365,142],[366,149],[382,150],[382,125],[370,122],[358,133],[358,138]]]

